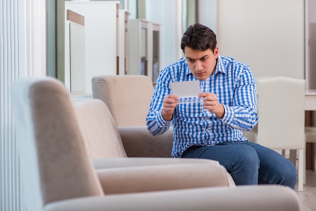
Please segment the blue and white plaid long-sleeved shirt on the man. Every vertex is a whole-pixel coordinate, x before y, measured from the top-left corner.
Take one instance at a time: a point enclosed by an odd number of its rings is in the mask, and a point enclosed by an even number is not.
[[[193,145],[214,145],[225,141],[247,141],[242,130],[257,124],[257,96],[250,67],[233,58],[219,56],[212,75],[199,81],[202,92],[212,92],[224,105],[225,115],[217,118],[205,110],[202,102],[178,104],[171,121],[162,116],[163,100],[171,94],[170,82],[197,80],[185,58],[161,71],[147,114],[147,128],[153,135],[174,128],[172,157]]]

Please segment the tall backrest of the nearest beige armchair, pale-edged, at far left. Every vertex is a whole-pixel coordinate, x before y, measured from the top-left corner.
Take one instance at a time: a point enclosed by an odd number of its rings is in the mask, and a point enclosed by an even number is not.
[[[103,195],[64,85],[54,78],[30,77],[18,79],[11,88],[27,209]]]

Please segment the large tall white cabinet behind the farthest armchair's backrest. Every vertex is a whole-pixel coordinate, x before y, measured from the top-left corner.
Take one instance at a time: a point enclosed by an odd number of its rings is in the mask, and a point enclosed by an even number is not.
[[[65,17],[67,10],[84,16],[86,93],[93,76],[117,74],[120,8],[120,2],[65,2]]]

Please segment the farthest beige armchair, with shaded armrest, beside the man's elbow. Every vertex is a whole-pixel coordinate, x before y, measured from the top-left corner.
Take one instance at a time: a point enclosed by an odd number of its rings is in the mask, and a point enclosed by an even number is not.
[[[152,81],[148,76],[97,75],[91,79],[91,83],[93,98],[106,103],[128,156],[171,157],[172,127],[159,137],[152,136],[146,127],[153,93]]]

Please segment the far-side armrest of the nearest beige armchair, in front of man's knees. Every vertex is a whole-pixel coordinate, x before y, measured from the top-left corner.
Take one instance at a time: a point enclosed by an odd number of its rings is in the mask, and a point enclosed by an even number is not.
[[[210,163],[108,168],[96,173],[105,194],[229,186],[226,169]]]

